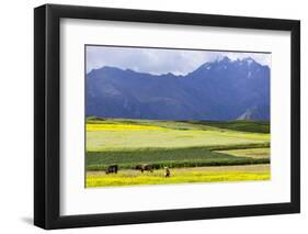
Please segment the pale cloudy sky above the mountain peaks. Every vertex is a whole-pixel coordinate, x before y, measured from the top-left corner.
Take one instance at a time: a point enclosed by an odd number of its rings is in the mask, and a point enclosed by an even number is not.
[[[231,60],[247,57],[271,67],[271,54],[213,51],[163,49],[140,47],[87,46],[87,73],[103,66],[161,75],[186,75],[201,65],[227,56]]]

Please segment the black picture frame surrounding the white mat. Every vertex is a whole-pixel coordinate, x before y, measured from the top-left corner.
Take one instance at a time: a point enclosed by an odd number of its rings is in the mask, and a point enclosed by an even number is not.
[[[292,35],[290,202],[102,214],[59,214],[60,19],[288,31]],[[66,229],[300,212],[300,22],[263,18],[45,4],[34,9],[34,224]]]

